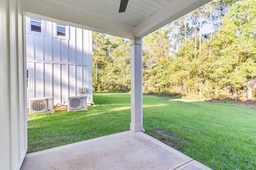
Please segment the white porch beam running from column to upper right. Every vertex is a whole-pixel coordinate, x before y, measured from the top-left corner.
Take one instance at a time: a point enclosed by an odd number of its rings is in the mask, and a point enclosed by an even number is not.
[[[135,36],[144,37],[157,29],[196,10],[211,0],[172,0],[161,10],[135,27]]]

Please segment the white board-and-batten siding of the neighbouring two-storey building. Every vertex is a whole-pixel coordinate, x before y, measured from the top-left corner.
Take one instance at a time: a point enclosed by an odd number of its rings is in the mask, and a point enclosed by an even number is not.
[[[66,37],[56,36],[56,23],[42,20],[41,33],[31,31],[26,17],[27,104],[29,98],[54,97],[67,105],[86,87],[92,103],[92,31],[66,26]],[[27,106],[28,107],[28,106]]]

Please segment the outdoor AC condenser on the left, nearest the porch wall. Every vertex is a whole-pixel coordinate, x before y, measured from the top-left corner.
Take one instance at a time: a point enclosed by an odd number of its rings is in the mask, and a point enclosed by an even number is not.
[[[54,113],[53,97],[30,98],[29,114],[32,114],[32,113]]]

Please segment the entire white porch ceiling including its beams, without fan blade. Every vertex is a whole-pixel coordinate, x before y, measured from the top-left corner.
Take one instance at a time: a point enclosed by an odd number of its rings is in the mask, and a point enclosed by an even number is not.
[[[144,37],[211,0],[24,0],[26,16],[124,38]]]

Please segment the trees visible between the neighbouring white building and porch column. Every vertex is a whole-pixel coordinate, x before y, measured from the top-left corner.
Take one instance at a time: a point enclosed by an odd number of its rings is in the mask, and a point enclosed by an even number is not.
[[[123,38],[93,32],[94,91],[130,91],[130,45]]]

